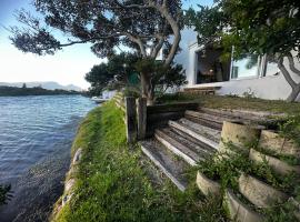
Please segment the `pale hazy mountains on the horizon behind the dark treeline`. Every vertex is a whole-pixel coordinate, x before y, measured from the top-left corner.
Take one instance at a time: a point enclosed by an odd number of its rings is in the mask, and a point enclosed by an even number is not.
[[[74,84],[68,84],[68,85],[62,85],[57,82],[0,82],[0,85],[7,85],[7,87],[22,87],[23,83],[28,88],[32,87],[42,87],[43,89],[47,90],[74,90],[74,91],[81,91],[82,89],[80,87],[77,87]]]

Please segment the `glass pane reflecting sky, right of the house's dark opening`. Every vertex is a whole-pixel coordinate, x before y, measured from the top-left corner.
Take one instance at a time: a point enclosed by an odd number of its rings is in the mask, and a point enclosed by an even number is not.
[[[233,60],[231,79],[258,77],[259,73],[259,58],[246,56],[243,59]]]

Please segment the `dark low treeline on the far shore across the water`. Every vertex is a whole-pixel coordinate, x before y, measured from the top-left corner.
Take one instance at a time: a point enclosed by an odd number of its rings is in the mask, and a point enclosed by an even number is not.
[[[33,88],[18,88],[0,85],[0,97],[21,97],[21,95],[56,95],[56,94],[81,94],[78,91],[67,90],[47,90],[41,87]]]

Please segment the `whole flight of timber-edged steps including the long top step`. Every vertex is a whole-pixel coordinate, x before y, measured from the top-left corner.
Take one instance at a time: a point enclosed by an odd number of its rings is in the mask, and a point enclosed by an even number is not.
[[[223,121],[242,123],[268,122],[270,113],[201,108],[187,110],[184,117],[156,129],[151,139],[141,142],[142,152],[179,190],[188,180],[184,169],[197,165],[218,151]]]

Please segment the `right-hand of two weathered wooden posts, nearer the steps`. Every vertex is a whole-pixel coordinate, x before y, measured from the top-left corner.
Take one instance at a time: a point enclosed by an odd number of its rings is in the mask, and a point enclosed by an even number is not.
[[[143,140],[146,138],[147,129],[147,98],[138,99],[138,139]]]

